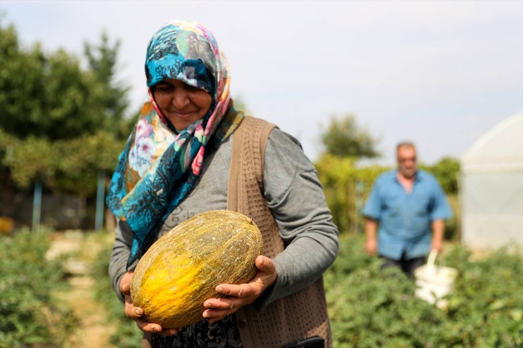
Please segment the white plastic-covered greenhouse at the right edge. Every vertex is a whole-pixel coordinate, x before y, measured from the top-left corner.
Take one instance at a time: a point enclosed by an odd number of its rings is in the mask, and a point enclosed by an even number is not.
[[[463,242],[523,253],[523,112],[492,128],[461,158]]]

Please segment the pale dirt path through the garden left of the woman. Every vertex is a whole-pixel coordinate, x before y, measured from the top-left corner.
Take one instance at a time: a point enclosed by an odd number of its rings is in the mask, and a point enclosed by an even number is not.
[[[111,236],[108,236],[108,238]],[[70,304],[79,319],[76,331],[66,342],[71,348],[113,347],[109,338],[115,328],[108,323],[105,309],[93,298],[94,279],[88,274],[89,262],[94,259],[101,245],[82,231],[66,231],[53,235],[47,258],[71,254],[65,267],[72,274],[71,289],[57,296]]]

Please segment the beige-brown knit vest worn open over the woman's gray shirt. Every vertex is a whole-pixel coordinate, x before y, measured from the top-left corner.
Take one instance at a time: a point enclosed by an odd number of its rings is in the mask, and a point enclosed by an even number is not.
[[[253,219],[263,236],[263,253],[274,258],[284,245],[279,228],[263,196],[265,145],[272,128],[262,119],[245,117],[233,137],[227,209]],[[270,303],[258,312],[245,306],[236,312],[245,348],[279,348],[318,335],[332,346],[327,305],[320,278],[305,289]]]

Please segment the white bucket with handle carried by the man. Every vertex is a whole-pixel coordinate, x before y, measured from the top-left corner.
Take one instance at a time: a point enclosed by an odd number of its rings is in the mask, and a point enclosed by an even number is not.
[[[458,270],[434,265],[437,255],[438,251],[430,251],[427,263],[414,271],[418,286],[414,294],[428,303],[435,303],[439,308],[445,308],[447,301],[441,297],[452,291]]]

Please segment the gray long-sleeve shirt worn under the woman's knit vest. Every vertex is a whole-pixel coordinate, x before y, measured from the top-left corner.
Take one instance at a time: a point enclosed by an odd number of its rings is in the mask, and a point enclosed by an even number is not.
[[[232,154],[232,137],[203,161],[199,181],[167,217],[158,237],[196,214],[226,209],[227,183]],[[304,289],[320,278],[338,253],[338,229],[325,202],[322,186],[314,166],[292,136],[274,128],[265,151],[264,196],[276,219],[285,250],[274,258],[278,277],[257,301],[258,309]],[[123,302],[119,290],[127,269],[132,232],[118,221],[109,275],[113,289]]]

